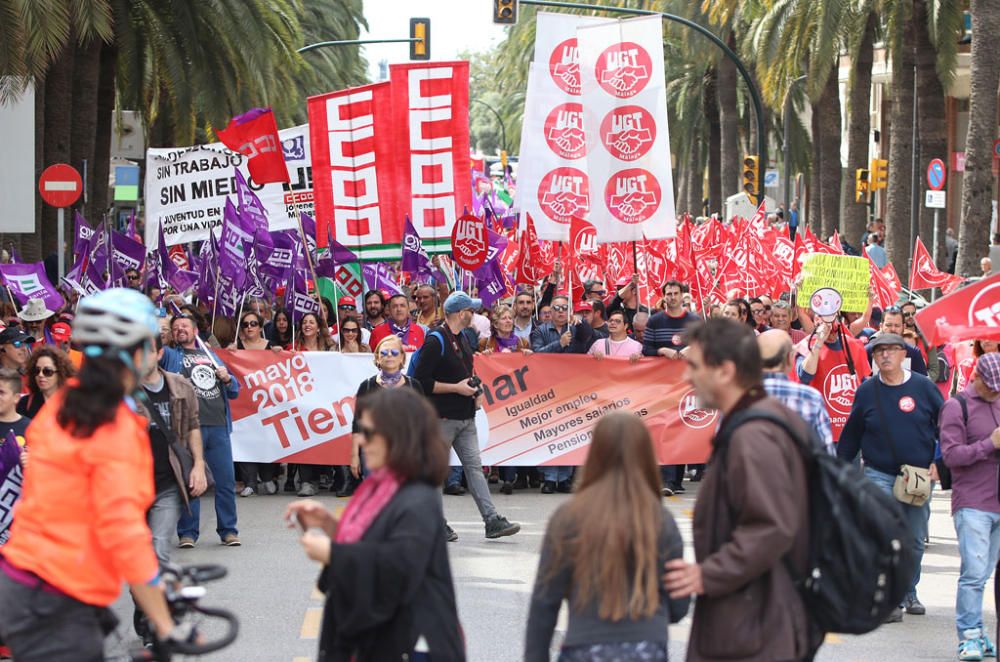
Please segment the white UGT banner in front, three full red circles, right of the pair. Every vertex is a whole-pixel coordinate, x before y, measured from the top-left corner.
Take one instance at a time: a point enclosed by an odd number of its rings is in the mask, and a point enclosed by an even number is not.
[[[590,222],[602,243],[676,235],[659,16],[579,26]]]

